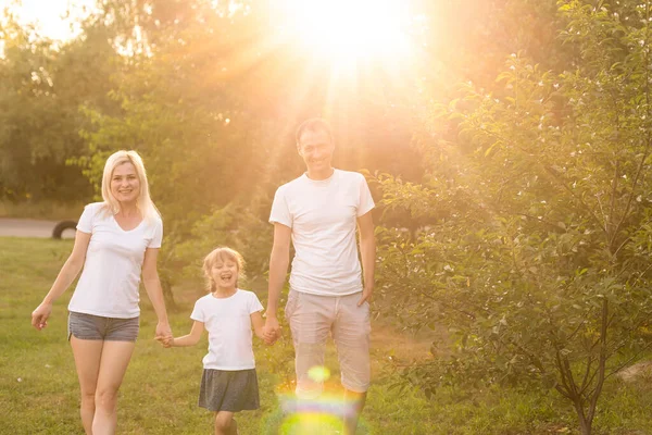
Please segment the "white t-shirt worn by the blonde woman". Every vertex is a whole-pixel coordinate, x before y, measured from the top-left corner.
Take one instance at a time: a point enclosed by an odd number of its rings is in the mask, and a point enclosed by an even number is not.
[[[90,243],[68,310],[105,318],[137,318],[145,251],[161,247],[161,219],[152,223],[143,220],[136,228],[124,231],[104,202],[93,202],[84,208],[77,229],[90,234]]]

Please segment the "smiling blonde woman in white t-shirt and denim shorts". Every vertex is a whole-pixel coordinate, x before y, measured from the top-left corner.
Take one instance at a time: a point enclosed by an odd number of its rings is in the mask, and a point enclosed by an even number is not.
[[[109,157],[102,198],[85,207],[73,252],[32,313],[32,325],[41,331],[52,302],[82,271],[68,304],[68,340],[79,377],[82,423],[92,435],[115,433],[117,390],[139,330],[141,275],[159,319],[155,338],[172,337],[156,272],[163,224],[136,151]]]

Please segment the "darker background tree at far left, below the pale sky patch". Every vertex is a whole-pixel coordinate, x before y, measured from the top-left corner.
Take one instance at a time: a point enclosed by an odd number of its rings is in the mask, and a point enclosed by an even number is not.
[[[102,28],[59,47],[5,12],[0,27],[0,197],[79,200],[90,189],[68,160],[85,150],[79,105],[109,112],[114,52]]]

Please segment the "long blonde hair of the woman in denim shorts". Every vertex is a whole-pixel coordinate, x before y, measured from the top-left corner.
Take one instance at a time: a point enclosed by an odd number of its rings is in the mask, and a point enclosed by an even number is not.
[[[125,163],[131,163],[134,165],[136,169],[136,174],[138,175],[138,179],[140,181],[140,194],[136,200],[136,207],[138,207],[138,210],[142,214],[142,219],[145,219],[147,222],[153,222],[156,217],[160,219],[161,213],[159,213],[159,210],[152,202],[149,194],[149,184],[147,182],[145,164],[142,164],[142,159],[138,152],[133,150],[120,150],[106,159],[106,163],[104,164],[104,173],[102,175],[102,198],[104,199],[104,203],[106,203],[106,207],[113,214],[120,211],[120,202],[111,192],[111,177],[113,176],[113,171],[115,171],[115,169],[121,164]]]

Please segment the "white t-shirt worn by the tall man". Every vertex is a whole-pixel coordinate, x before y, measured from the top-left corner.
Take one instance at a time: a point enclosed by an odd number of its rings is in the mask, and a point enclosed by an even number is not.
[[[269,222],[292,229],[290,288],[344,296],[362,290],[356,219],[374,208],[364,176],[334,170],[327,179],[301,175],[276,190]]]

